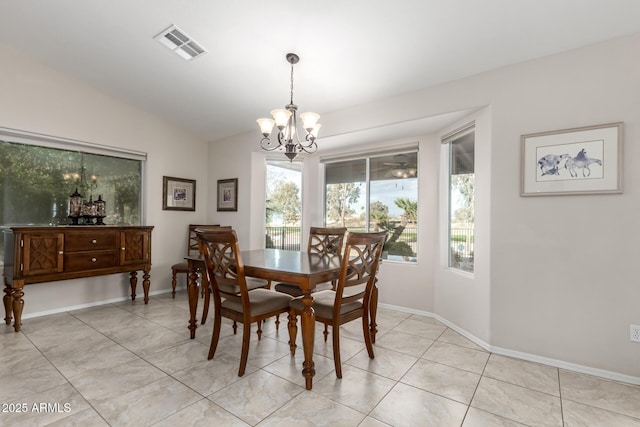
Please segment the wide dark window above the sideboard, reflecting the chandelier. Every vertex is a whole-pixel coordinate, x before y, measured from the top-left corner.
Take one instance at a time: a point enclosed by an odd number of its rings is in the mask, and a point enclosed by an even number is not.
[[[69,196],[76,188],[85,201],[102,196],[106,224],[141,225],[141,159],[11,142],[9,138],[0,137],[0,226],[70,224]],[[0,240],[2,263],[2,235]]]

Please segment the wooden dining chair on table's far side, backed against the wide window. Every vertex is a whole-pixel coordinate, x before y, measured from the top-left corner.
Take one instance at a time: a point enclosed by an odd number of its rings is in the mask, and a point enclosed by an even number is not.
[[[309,228],[309,241],[307,243],[307,252],[323,255],[342,255],[342,247],[344,235],[347,232],[346,227],[311,227]],[[335,283],[327,282],[316,285],[312,292],[333,289]],[[294,297],[302,295],[302,290],[298,285],[292,283],[278,283],[274,289],[278,292],[284,292]]]

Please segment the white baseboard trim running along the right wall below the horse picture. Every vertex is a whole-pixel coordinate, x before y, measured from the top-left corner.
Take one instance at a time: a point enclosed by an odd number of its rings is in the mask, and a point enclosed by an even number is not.
[[[626,375],[626,374],[622,374],[622,373],[619,373],[619,372],[608,371],[608,370],[605,370],[605,369],[592,368],[590,366],[579,365],[577,363],[571,363],[571,362],[567,362],[567,361],[564,361],[564,360],[552,359],[552,358],[549,358],[549,357],[539,356],[539,355],[536,355],[536,354],[525,353],[525,352],[522,352],[522,351],[516,351],[516,350],[511,350],[511,349],[508,349],[508,348],[503,348],[503,347],[498,347],[498,346],[491,345],[491,344],[479,339],[478,337],[470,334],[468,331],[460,328],[458,325],[448,321],[447,319],[443,318],[442,316],[439,316],[439,315],[437,315],[435,313],[431,313],[429,311],[415,310],[415,309],[411,309],[411,308],[399,307],[399,306],[389,305],[389,304],[379,304],[379,306],[380,307],[389,308],[391,310],[404,312],[404,313],[416,314],[416,315],[419,315],[419,316],[425,316],[425,317],[434,318],[434,319],[438,320],[439,322],[442,322],[443,324],[445,324],[447,327],[453,329],[454,331],[456,331],[457,333],[459,333],[463,337],[467,338],[469,341],[473,342],[474,344],[482,347],[483,349],[485,349],[486,351],[489,351],[491,353],[499,354],[501,356],[513,357],[513,358],[516,358],[516,359],[522,359],[522,360],[526,360],[526,361],[529,361],[529,362],[540,363],[540,364],[543,364],[543,365],[549,365],[549,366],[553,366],[553,367],[556,367],[556,368],[559,368],[559,369],[565,369],[565,370],[568,370],[568,371],[579,372],[581,374],[592,375],[594,377],[605,378],[605,379],[612,380],[612,381],[619,381],[619,382],[623,382],[623,383],[627,383],[627,384],[640,385],[640,377],[635,377],[635,376],[632,376],[632,375]]]

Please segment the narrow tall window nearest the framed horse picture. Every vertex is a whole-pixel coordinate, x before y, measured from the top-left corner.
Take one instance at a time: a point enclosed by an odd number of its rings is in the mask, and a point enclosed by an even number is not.
[[[473,272],[474,149],[473,125],[445,138],[449,145],[449,267]]]

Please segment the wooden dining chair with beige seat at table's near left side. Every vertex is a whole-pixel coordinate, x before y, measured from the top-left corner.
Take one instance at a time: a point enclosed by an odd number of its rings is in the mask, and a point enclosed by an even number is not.
[[[241,377],[249,357],[251,324],[257,323],[260,340],[262,321],[288,312],[292,297],[265,289],[266,280],[245,276],[238,235],[234,230],[197,230],[196,234],[213,288],[214,321],[208,359],[213,359],[216,353],[222,318],[242,323],[242,351],[238,369],[238,376]],[[249,290],[248,282],[252,282],[255,288]]]

